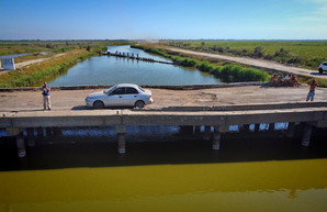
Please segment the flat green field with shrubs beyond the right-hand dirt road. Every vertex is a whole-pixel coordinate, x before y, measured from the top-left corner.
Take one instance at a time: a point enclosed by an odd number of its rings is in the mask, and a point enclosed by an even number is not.
[[[166,45],[234,56],[263,58],[316,69],[327,60],[327,41],[166,41]]]

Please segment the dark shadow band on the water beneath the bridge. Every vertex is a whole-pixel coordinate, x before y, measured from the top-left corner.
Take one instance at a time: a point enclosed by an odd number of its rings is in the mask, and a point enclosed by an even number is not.
[[[123,155],[117,153],[115,135],[91,135],[88,131],[37,138],[35,146],[26,148],[25,158],[16,156],[13,138],[0,137],[0,170],[327,158],[326,129],[314,129],[308,147],[301,146],[301,137],[286,138],[281,132],[228,133],[222,137],[219,150],[212,150],[212,142],[201,135],[134,131],[126,138],[127,153]]]

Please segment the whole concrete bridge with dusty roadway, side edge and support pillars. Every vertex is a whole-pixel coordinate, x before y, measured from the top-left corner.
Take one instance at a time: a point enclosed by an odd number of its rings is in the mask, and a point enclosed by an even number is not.
[[[221,137],[230,125],[249,127],[289,123],[294,135],[302,123],[302,145],[308,146],[313,127],[327,127],[327,92],[317,88],[314,102],[305,102],[307,87],[273,88],[264,83],[230,83],[151,87],[155,102],[145,109],[90,110],[83,99],[108,86],[52,88],[53,110],[42,110],[38,88],[0,89],[0,127],[15,136],[18,154],[26,155],[25,142],[34,132],[55,132],[65,126],[114,126],[119,153],[126,153],[129,125],[176,125],[204,129],[204,138],[219,149]],[[38,109],[37,109],[38,108]],[[24,132],[24,133],[23,133]],[[23,135],[26,135],[25,137]],[[34,142],[35,143],[35,142]]]

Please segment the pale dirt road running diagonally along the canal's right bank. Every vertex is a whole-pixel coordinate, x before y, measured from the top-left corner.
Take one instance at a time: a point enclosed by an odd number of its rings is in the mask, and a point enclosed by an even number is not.
[[[268,69],[279,70],[279,71],[292,72],[292,74],[295,74],[298,76],[301,75],[301,76],[306,76],[306,77],[327,79],[327,72],[319,74],[318,70],[296,68],[296,67],[286,66],[286,65],[282,65],[282,64],[270,62],[270,60],[253,59],[253,58],[248,58],[248,57],[233,57],[233,56],[226,56],[226,55],[219,55],[219,54],[201,53],[201,52],[195,52],[195,51],[174,48],[174,47],[166,47],[166,48],[169,51],[172,51],[172,52],[185,53],[185,54],[204,56],[204,57],[212,57],[212,58],[217,58],[217,59],[225,59],[225,60],[236,62],[239,64],[256,66],[256,67],[260,67],[260,68],[268,68]]]

